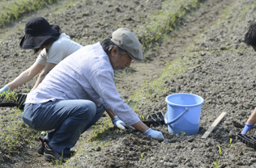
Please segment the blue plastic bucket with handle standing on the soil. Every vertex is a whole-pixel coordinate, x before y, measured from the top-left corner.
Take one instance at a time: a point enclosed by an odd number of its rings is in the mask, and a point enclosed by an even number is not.
[[[201,107],[204,102],[202,97],[196,94],[171,94],[165,101],[168,110],[164,120],[169,132],[173,134],[186,132],[186,135],[198,133]]]

